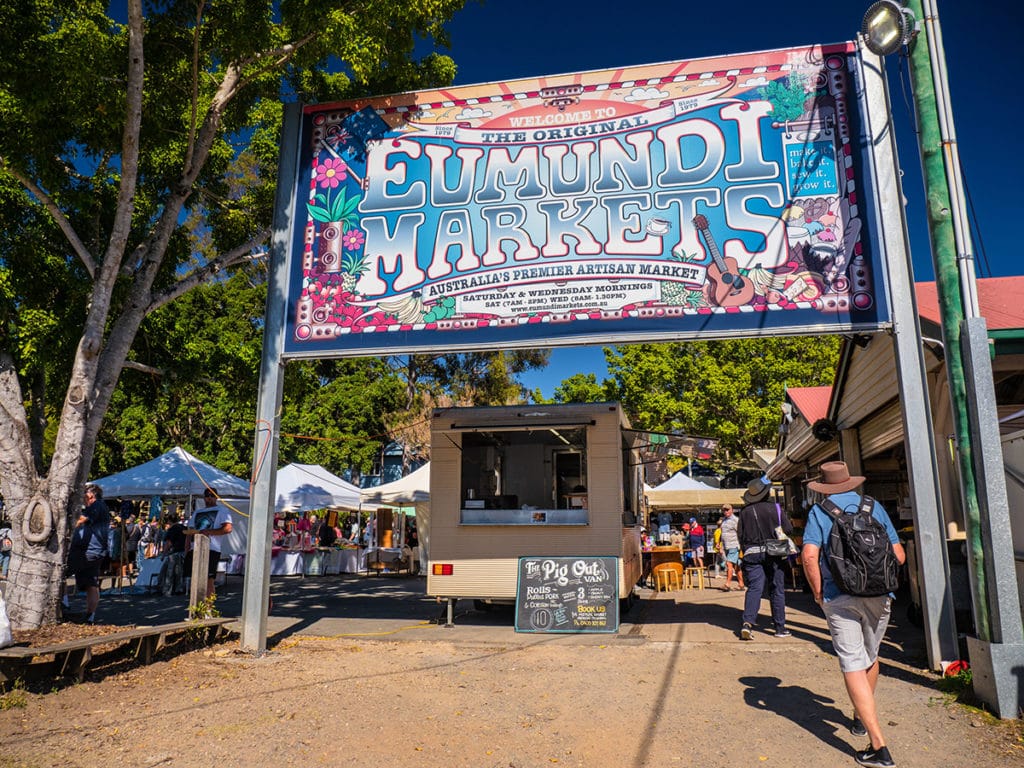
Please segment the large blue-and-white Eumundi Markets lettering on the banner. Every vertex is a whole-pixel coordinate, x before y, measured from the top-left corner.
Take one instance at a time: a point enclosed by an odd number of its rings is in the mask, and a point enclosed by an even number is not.
[[[771,104],[736,101],[713,111],[716,120],[652,126],[636,116],[529,134],[549,142],[543,145],[507,146],[502,139],[514,143],[523,134],[495,131],[474,132],[479,145],[415,136],[381,142],[369,155],[358,208],[369,256],[360,293],[373,299],[454,274],[567,257],[655,257],[667,247],[699,253],[689,225],[698,206],[721,208],[729,228],[760,236],[758,252],[727,239],[726,258],[745,263],[756,254],[764,266],[777,265],[785,255],[784,232],[777,216],[761,212],[785,200],[779,163],[762,153],[761,121]],[[612,131],[620,133],[561,140],[564,133]],[[738,152],[731,160],[730,146]],[[711,183],[715,179],[719,183]],[[674,240],[668,244],[645,229],[654,214],[669,222]],[[602,262],[590,273],[634,273],[631,266]],[[665,269],[686,271],[678,264]],[[648,265],[637,273],[658,272]],[[502,276],[515,280],[514,272]],[[495,282],[495,275],[483,279]]]

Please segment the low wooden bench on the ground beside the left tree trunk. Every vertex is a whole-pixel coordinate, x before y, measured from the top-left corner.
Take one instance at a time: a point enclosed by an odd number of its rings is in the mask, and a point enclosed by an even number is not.
[[[11,645],[0,648],[0,684],[14,680],[38,680],[47,677],[74,675],[81,682],[85,671],[92,662],[92,651],[96,646],[129,643],[134,646],[133,655],[145,664],[167,645],[168,639],[187,632],[203,632],[206,642],[212,642],[228,630],[225,625],[234,618],[218,616],[191,622],[160,624],[154,627],[134,627],[109,635],[83,637],[53,645],[25,646]],[[48,658],[52,656],[52,658]]]

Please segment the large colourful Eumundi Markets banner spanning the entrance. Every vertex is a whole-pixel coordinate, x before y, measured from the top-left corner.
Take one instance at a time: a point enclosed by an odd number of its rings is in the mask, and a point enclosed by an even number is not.
[[[814,46],[306,108],[286,354],[879,328],[858,67]]]

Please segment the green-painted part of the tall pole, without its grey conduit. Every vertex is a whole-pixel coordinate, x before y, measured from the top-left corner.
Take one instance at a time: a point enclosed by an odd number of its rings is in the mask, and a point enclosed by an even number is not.
[[[921,0],[908,0],[919,19],[925,17]],[[964,324],[964,304],[961,298],[956,241],[953,232],[952,210],[949,199],[950,179],[946,175],[945,153],[939,114],[936,105],[935,80],[927,34],[923,29],[910,44],[910,79],[918,112],[918,140],[925,179],[928,208],[928,232],[935,266],[935,286],[938,294],[942,324],[942,345],[945,353],[946,376],[952,401],[953,436],[956,440],[956,458],[959,464],[961,494],[967,528],[969,563],[972,569],[974,623],[981,640],[991,639],[988,611],[988,587],[985,578],[985,553],[981,539],[981,506],[974,471],[971,425],[968,419],[967,377],[961,351],[961,329]]]

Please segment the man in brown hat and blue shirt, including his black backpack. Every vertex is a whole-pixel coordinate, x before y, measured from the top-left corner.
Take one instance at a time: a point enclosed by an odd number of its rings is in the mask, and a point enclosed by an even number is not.
[[[906,553],[885,508],[857,493],[863,483],[863,477],[850,475],[846,462],[821,465],[821,479],[807,487],[825,499],[807,515],[801,559],[814,600],[828,622],[853,703],[850,732],[871,739],[854,760],[868,768],[890,768],[895,763],[882,735],[874,688],[892,590]]]

